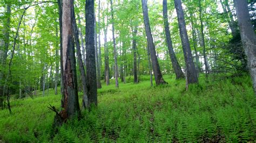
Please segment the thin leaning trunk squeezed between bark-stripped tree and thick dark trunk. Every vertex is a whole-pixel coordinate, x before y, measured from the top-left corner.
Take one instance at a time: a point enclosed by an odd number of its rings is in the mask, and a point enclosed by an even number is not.
[[[73,9],[74,10],[74,9]],[[75,11],[73,11],[73,31],[74,31],[74,38],[75,38],[75,44],[76,44],[76,53],[77,53],[77,61],[78,61],[78,66],[80,70],[80,75],[82,78],[82,84],[83,84],[83,101],[82,105],[83,108],[88,108],[88,97],[86,95],[86,75],[85,75],[85,70],[84,70],[84,63],[82,59],[82,54],[81,54],[81,49],[80,49],[80,42],[79,42],[79,31],[75,19]],[[83,40],[83,39],[82,39]]]

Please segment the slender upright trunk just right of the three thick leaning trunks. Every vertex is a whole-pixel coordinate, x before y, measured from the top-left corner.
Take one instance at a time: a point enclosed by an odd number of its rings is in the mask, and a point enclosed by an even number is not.
[[[208,78],[209,73],[209,65],[208,60],[206,56],[206,49],[205,49],[205,36],[204,36],[204,25],[202,20],[202,7],[201,7],[201,0],[199,0],[199,19],[200,19],[200,28],[201,28],[201,35],[202,35],[202,42],[203,42],[203,56],[204,56],[204,63],[205,63],[205,76],[206,80]]]

